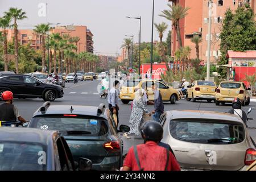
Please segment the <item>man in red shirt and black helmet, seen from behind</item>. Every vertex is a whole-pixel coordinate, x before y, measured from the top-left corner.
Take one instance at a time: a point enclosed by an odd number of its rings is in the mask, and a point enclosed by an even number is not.
[[[163,127],[158,122],[150,121],[146,123],[143,133],[146,143],[129,149],[123,171],[180,171],[174,155],[158,146],[163,138]]]

